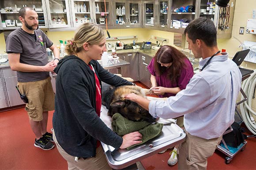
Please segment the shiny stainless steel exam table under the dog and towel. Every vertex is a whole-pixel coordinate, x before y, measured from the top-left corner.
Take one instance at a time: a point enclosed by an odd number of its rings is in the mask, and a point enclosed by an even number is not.
[[[101,119],[112,129],[112,118],[107,116],[108,110],[102,106]],[[112,146],[102,143],[109,166],[113,169],[122,169],[139,162],[149,156],[157,154],[167,148],[173,148],[185,140],[186,134],[176,123],[163,126],[162,134],[142,145],[137,145],[130,150],[114,149]]]

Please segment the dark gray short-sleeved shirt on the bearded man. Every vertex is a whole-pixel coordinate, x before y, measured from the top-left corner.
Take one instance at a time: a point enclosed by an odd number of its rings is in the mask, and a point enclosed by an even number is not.
[[[31,34],[19,28],[11,32],[6,40],[7,53],[20,53],[20,63],[29,65],[46,65],[48,56],[46,48],[53,42],[38,29],[34,30],[36,40]],[[44,80],[49,77],[49,72],[17,72],[18,82],[32,82]]]

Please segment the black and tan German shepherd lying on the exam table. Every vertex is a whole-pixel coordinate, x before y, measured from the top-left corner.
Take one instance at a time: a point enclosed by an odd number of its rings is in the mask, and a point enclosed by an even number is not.
[[[146,98],[146,94],[151,94],[151,91],[139,86],[114,87],[102,82],[102,105],[109,109],[108,115],[112,117],[115,113],[120,113],[132,121],[155,122],[155,119],[146,109],[143,109],[136,102],[124,98],[126,94],[130,93]]]

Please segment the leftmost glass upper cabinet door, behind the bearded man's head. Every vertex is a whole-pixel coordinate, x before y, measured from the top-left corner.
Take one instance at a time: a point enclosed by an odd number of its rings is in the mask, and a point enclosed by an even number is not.
[[[38,13],[39,28],[48,27],[45,0],[0,0],[0,29],[11,30],[21,27],[18,13],[22,7],[32,7]]]

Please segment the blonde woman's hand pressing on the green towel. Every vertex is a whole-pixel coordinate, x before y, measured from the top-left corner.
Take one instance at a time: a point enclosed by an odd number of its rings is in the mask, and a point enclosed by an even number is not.
[[[141,139],[142,139],[142,134],[140,134],[138,131],[125,134],[123,136],[123,143],[120,146],[120,148],[125,149],[125,148],[128,148],[129,146],[139,144],[142,142]]]

